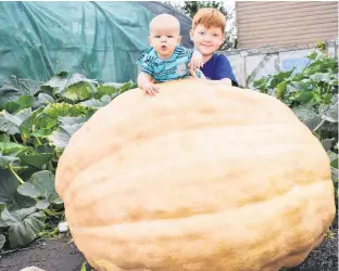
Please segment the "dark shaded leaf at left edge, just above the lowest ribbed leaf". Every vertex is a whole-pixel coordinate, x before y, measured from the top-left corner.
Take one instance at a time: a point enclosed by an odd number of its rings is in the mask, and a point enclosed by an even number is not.
[[[18,181],[8,169],[0,169],[0,204],[9,210],[32,207],[36,202],[17,193]]]

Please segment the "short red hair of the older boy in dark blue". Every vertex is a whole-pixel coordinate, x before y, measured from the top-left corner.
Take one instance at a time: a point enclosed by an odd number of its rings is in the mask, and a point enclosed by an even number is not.
[[[224,33],[226,28],[226,18],[225,15],[217,9],[202,8],[193,16],[192,29],[194,30],[200,24],[206,28],[221,27]]]

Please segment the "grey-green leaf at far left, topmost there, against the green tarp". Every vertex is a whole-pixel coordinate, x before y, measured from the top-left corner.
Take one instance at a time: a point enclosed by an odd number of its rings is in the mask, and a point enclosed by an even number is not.
[[[16,102],[21,95],[33,96],[39,91],[41,85],[40,81],[10,76],[0,88],[0,108],[3,109],[9,102]]]

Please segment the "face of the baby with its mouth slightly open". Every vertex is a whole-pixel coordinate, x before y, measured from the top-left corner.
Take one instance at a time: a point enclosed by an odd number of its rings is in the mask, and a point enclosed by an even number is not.
[[[173,54],[180,39],[178,28],[174,26],[154,26],[150,29],[150,44],[162,60]]]

